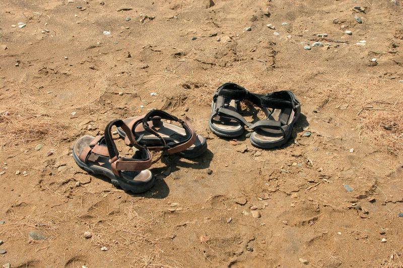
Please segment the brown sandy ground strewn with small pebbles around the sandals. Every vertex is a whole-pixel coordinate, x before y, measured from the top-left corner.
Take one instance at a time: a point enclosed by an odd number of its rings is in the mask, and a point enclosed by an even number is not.
[[[0,1],[0,264],[402,267],[397,4]],[[292,90],[303,113],[293,139],[259,150],[211,133],[211,97],[227,81]],[[77,138],[150,109],[190,117],[209,150],[164,157],[142,195],[75,164]]]

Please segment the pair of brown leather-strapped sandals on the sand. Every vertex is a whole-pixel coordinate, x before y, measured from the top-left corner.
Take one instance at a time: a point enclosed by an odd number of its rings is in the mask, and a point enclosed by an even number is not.
[[[181,126],[171,124],[173,122]],[[112,137],[113,126],[125,144],[136,149],[131,157],[119,155]],[[81,137],[74,145],[73,158],[88,173],[106,176],[115,187],[139,194],[154,186],[155,177],[148,168],[163,155],[195,158],[206,150],[206,139],[195,133],[189,118],[181,120],[164,111],[153,110],[145,116],[109,122],[103,136]],[[162,153],[153,160],[151,151]]]

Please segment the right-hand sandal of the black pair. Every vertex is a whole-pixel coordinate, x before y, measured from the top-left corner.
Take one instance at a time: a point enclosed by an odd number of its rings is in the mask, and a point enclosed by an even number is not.
[[[291,91],[254,95],[260,99],[263,107],[271,109],[271,113],[266,119],[249,126],[253,130],[250,142],[256,147],[266,149],[285,144],[301,114],[301,104]]]

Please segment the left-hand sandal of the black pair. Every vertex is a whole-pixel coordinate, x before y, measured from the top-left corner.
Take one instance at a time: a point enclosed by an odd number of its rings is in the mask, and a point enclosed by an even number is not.
[[[260,100],[236,83],[221,85],[213,96],[209,127],[221,137],[238,137],[243,134],[244,126],[251,124],[239,114],[241,101],[248,100],[260,107],[267,115],[267,109],[260,105]]]

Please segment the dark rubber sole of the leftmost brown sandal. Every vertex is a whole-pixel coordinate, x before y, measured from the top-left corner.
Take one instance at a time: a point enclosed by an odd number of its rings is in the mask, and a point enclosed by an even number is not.
[[[101,168],[95,169],[95,167],[94,167],[94,169],[89,168],[83,161],[80,160],[80,158],[75,154],[74,150],[73,150],[73,158],[74,158],[74,161],[76,161],[77,165],[81,169],[87,171],[89,174],[101,175],[101,176],[107,177],[107,178],[109,178],[110,182],[112,183],[112,185],[114,187],[120,187],[124,191],[128,191],[133,194],[141,194],[141,193],[147,192],[155,185],[154,174],[152,174],[151,180],[147,183],[132,182],[130,184],[128,182],[125,182],[125,180],[123,178],[116,177],[112,171],[107,172]],[[133,183],[136,183],[136,185],[132,185]]]

